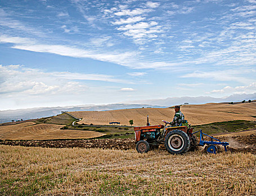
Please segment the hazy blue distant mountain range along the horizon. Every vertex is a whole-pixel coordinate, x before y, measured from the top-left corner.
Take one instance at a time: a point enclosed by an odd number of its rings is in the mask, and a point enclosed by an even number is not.
[[[11,120],[26,120],[42,118],[61,114],[61,111],[104,111],[132,108],[167,108],[173,105],[188,104],[206,104],[208,102],[239,102],[242,100],[256,100],[256,93],[231,95],[223,98],[214,98],[210,96],[199,97],[168,97],[167,99],[152,99],[131,101],[128,104],[107,104],[107,105],[78,105],[52,108],[30,108],[19,110],[0,111],[0,123],[11,122]]]

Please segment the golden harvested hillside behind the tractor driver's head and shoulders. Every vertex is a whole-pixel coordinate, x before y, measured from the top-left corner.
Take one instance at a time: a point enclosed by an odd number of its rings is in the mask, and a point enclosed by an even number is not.
[[[244,104],[203,104],[182,105],[182,113],[185,119],[192,125],[225,122],[230,120],[255,120],[256,102]],[[151,124],[162,124],[161,120],[172,121],[174,109],[170,108],[139,108],[109,111],[72,111],[70,114],[83,118],[79,124],[109,124],[120,122],[129,125],[133,119],[133,125],[146,125],[147,115]]]

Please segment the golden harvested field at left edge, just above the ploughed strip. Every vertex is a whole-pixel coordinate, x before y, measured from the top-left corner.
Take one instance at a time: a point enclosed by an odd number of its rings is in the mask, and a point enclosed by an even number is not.
[[[78,139],[94,138],[104,134],[87,130],[62,130],[63,125],[32,122],[0,127],[0,139]]]

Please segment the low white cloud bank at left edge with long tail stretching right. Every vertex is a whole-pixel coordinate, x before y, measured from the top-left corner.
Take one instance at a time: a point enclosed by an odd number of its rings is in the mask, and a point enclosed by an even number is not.
[[[20,65],[0,65],[0,94],[28,95],[79,93],[87,90],[82,81],[106,81],[132,83],[106,74],[83,74],[71,72],[43,72]],[[81,82],[78,82],[80,80]]]

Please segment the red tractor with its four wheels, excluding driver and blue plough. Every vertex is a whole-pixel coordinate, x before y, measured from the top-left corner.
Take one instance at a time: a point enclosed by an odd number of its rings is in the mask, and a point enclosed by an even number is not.
[[[164,144],[166,150],[171,154],[182,154],[192,150],[197,146],[197,138],[192,134],[193,128],[190,125],[180,127],[168,127],[165,125],[149,125],[134,127],[136,150],[145,153],[150,148],[158,148],[159,144]]]

